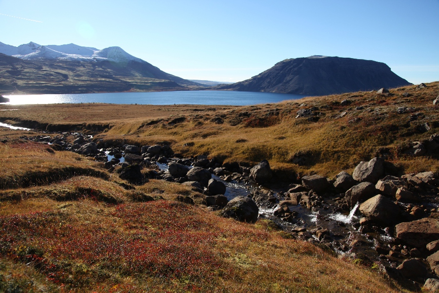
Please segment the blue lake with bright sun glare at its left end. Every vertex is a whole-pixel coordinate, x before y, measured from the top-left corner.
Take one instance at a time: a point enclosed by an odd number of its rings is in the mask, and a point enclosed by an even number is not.
[[[164,91],[141,93],[99,93],[62,95],[10,95],[9,105],[27,104],[141,104],[141,105],[257,105],[296,100],[302,95],[241,91]]]

